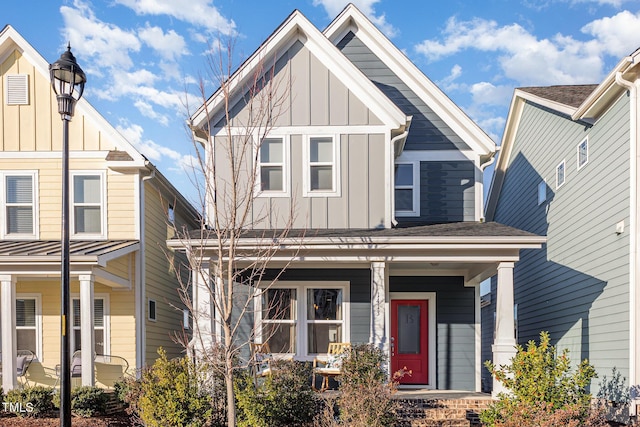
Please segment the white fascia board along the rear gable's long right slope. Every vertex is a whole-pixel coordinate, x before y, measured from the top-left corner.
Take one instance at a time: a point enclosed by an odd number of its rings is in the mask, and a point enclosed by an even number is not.
[[[480,155],[495,151],[495,142],[353,4],[329,24],[324,34],[335,45],[348,30],[357,34],[471,149]]]

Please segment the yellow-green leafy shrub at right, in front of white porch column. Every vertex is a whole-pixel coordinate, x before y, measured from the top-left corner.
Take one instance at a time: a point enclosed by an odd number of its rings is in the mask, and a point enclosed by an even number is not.
[[[556,348],[550,345],[547,332],[540,333],[539,345],[529,341],[526,349],[517,346],[510,365],[498,367],[486,362],[486,366],[509,393],[500,393],[499,400],[480,414],[485,425],[507,425],[507,420],[513,422],[518,415],[521,420],[518,425],[537,426],[541,422],[527,424],[522,420],[527,419],[527,414],[532,418],[540,418],[544,414],[552,417],[558,411],[577,421],[577,425],[588,419],[591,394],[587,387],[596,377],[596,372],[585,359],[571,373],[569,351],[565,349],[558,355]]]

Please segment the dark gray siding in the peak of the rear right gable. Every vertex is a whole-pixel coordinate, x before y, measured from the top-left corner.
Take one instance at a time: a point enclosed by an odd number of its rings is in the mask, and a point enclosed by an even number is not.
[[[413,116],[405,150],[469,149],[460,137],[352,32],[349,32],[337,47],[400,110]]]

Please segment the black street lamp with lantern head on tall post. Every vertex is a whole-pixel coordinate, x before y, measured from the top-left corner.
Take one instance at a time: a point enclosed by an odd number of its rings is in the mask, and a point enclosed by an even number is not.
[[[49,65],[51,86],[62,118],[62,266],[60,308],[60,426],[71,427],[71,341],[69,340],[69,122],[82,97],[87,77],[71,53],[71,45]]]

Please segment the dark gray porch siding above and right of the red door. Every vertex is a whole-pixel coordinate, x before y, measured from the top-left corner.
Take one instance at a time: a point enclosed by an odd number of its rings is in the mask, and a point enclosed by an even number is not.
[[[436,292],[436,387],[475,390],[475,289],[462,277],[393,276],[391,292]]]

